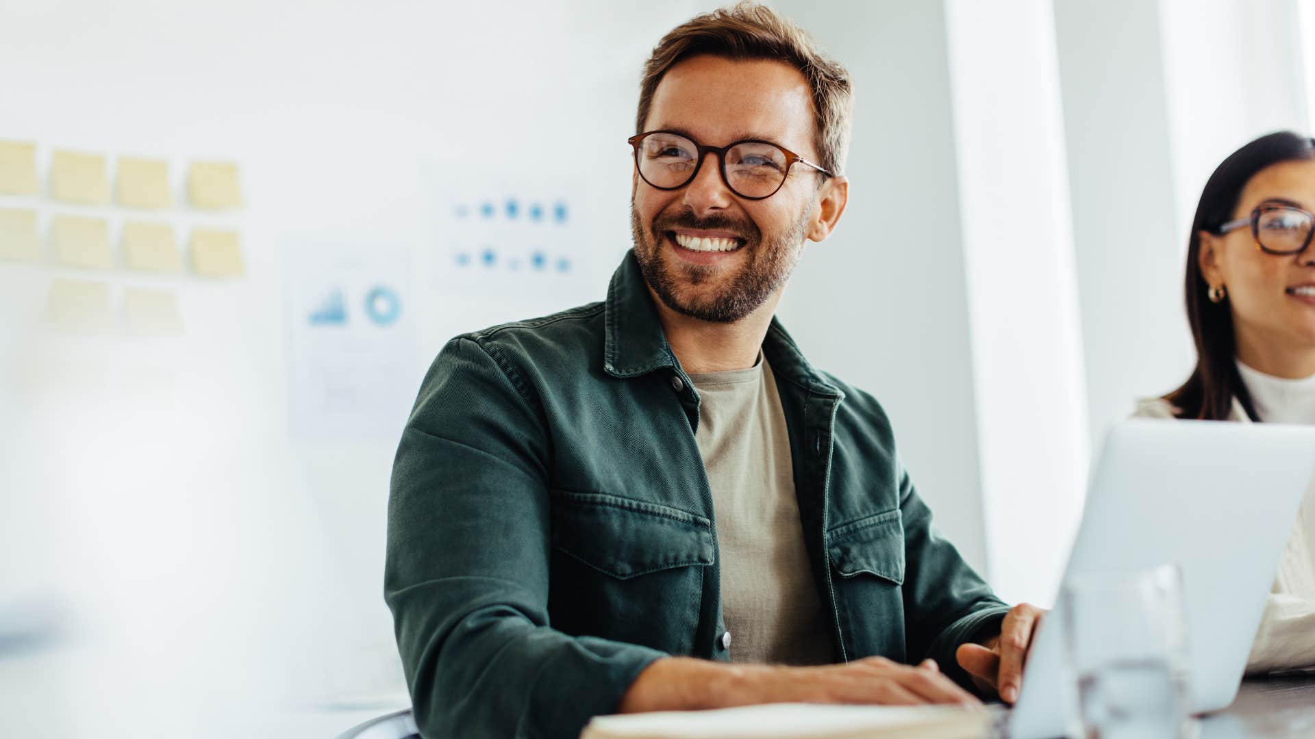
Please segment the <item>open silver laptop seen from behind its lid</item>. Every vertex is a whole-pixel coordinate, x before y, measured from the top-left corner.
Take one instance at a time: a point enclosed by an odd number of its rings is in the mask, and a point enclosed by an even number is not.
[[[1178,564],[1193,711],[1224,709],[1312,476],[1315,426],[1124,421],[1091,475],[1064,581]],[[1032,642],[1009,717],[1013,739],[1069,732],[1077,694],[1064,659],[1063,613],[1055,610]]]

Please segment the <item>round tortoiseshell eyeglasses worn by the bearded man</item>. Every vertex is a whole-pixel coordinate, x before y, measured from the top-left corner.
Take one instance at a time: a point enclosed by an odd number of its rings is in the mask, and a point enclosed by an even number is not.
[[[689,184],[698,175],[707,154],[717,154],[722,181],[744,200],[763,200],[776,195],[796,162],[828,178],[835,176],[769,141],[746,139],[729,146],[704,146],[676,131],[648,131],[626,141],[635,147],[639,176],[658,189],[680,189]]]

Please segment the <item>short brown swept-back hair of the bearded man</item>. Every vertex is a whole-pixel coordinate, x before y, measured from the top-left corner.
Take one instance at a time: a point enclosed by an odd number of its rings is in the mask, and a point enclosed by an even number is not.
[[[807,32],[757,3],[744,1],[696,16],[658,42],[644,62],[635,133],[643,133],[654,92],[667,71],[700,54],[736,60],[773,59],[802,72],[813,89],[818,164],[836,175],[843,172],[853,117],[849,72],[823,54]]]

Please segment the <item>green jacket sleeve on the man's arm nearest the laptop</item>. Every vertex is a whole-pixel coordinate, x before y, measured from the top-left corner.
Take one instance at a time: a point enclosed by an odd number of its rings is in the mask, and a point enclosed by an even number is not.
[[[899,513],[905,529],[905,632],[910,663],[936,660],[942,672],[973,690],[972,679],[959,667],[960,644],[999,634],[1009,606],[964,561],[936,526],[931,509],[899,471]]]

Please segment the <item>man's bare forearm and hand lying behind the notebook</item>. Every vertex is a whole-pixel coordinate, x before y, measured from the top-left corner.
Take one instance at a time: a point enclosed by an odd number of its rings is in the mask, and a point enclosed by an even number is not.
[[[936,663],[918,667],[867,657],[822,667],[727,665],[690,657],[650,664],[621,698],[618,713],[698,710],[755,703],[949,703],[980,706]]]

